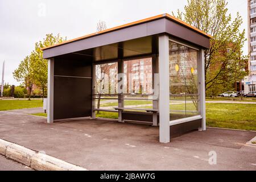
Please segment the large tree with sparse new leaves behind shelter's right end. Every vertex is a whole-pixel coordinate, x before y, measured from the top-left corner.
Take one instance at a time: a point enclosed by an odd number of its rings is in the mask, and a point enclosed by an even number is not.
[[[240,31],[242,18],[237,13],[232,21],[227,5],[226,0],[188,0],[184,13],[177,10],[177,18],[212,36],[210,48],[205,50],[206,90],[233,84],[247,75],[248,56],[242,52],[245,30]]]

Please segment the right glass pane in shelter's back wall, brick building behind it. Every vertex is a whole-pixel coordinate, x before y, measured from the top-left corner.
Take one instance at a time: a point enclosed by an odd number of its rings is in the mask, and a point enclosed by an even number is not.
[[[123,94],[125,108],[152,109],[152,59],[124,61]],[[143,110],[141,110],[143,111]]]

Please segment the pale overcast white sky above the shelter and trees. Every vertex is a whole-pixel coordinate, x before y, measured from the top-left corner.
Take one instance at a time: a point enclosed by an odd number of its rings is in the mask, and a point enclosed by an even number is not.
[[[227,0],[229,13],[243,18],[242,29],[247,38],[247,0]],[[159,14],[184,10],[187,0],[0,0],[0,77],[5,60],[5,82],[20,83],[13,71],[46,34],[67,39],[96,32],[97,22],[104,20],[108,28]],[[247,54],[247,42],[243,48]]]

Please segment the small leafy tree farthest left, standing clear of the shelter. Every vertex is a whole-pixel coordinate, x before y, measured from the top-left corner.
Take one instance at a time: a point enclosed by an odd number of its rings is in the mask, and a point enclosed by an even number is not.
[[[32,71],[32,62],[29,56],[25,57],[19,64],[19,67],[13,72],[15,80],[22,81],[28,88],[28,100],[30,100],[32,86],[35,83],[35,77]]]

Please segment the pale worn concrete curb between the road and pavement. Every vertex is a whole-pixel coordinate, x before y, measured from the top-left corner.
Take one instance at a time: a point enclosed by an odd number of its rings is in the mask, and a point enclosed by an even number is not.
[[[38,171],[88,171],[88,169],[3,139],[0,139],[0,154]]]

